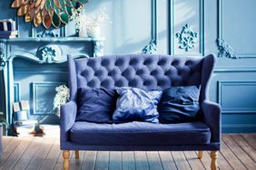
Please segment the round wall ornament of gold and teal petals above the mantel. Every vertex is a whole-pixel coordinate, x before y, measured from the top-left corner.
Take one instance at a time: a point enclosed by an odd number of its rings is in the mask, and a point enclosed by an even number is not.
[[[89,0],[14,0],[11,7],[18,8],[17,15],[25,16],[25,22],[34,26],[44,25],[49,29],[68,24],[72,9],[88,3]]]

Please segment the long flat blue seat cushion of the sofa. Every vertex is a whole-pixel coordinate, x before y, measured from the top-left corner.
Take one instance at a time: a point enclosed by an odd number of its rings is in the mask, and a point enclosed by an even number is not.
[[[153,124],[133,121],[122,124],[75,122],[71,141],[80,145],[193,145],[210,143],[210,128],[202,122]]]

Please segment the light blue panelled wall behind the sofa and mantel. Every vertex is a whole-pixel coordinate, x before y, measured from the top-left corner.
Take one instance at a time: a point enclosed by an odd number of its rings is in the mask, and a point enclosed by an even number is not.
[[[157,30],[152,20],[152,2],[96,0],[86,5],[87,14],[97,14],[104,7],[112,22],[103,27],[104,53],[138,53],[157,36],[155,53],[219,54],[210,99],[222,105],[222,130],[256,132],[256,1],[158,0]],[[8,3],[0,3],[0,18],[15,18],[15,10],[6,6]],[[19,22],[20,36],[31,36],[31,25],[22,18]],[[188,51],[179,48],[181,43],[176,36],[186,24],[194,40]],[[41,31],[42,28],[35,29],[35,33]],[[66,35],[73,34],[71,23],[66,26]]]

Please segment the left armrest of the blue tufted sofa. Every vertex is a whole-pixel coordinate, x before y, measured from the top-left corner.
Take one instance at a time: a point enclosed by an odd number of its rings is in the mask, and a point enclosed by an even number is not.
[[[77,106],[76,103],[71,100],[61,106],[61,145],[63,142],[69,140],[68,131],[74,125],[74,120],[76,117]]]

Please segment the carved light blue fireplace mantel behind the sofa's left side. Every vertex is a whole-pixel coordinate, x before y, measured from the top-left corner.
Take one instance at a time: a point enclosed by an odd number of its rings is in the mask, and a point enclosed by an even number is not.
[[[10,125],[9,129],[6,129],[9,130],[9,134],[12,134],[10,128],[14,121],[15,101],[29,100],[32,107],[31,118],[39,122],[52,114],[42,113],[40,109],[39,105],[45,105],[45,100],[47,101],[41,91],[47,91],[47,88],[53,91],[57,85],[66,83],[67,70],[64,63],[67,54],[74,58],[101,56],[103,40],[80,37],[0,39],[0,74],[4,78],[0,80],[0,88],[4,91],[0,98],[5,103],[2,107],[5,121]],[[35,79],[36,75],[43,76]],[[45,98],[43,100],[42,95]],[[36,107],[39,109],[36,110]]]

